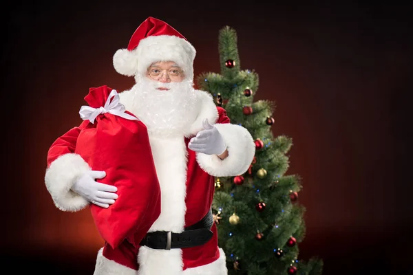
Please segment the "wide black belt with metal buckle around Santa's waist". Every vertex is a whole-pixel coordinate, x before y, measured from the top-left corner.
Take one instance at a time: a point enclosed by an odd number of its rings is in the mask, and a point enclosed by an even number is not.
[[[139,245],[160,250],[171,250],[171,248],[192,248],[193,246],[207,243],[213,235],[210,230],[213,225],[212,210],[194,225],[188,226],[182,233],[171,231],[155,231],[146,234]]]

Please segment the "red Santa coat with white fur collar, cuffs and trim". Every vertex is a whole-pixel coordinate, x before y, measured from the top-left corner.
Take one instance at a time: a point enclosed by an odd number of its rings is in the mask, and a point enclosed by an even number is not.
[[[162,210],[149,232],[165,230],[182,232],[184,227],[198,222],[211,208],[214,193],[214,176],[229,177],[248,170],[255,155],[253,137],[240,125],[231,124],[224,109],[215,107],[211,95],[197,91],[202,108],[198,117],[182,136],[165,137],[149,135],[153,161],[161,187]],[[131,93],[120,94],[120,102],[134,113]],[[216,155],[195,153],[188,149],[191,137],[202,130],[202,120],[214,122],[224,137],[229,156],[221,160]],[[80,156],[74,154],[78,127],[61,136],[47,156],[45,184],[54,203],[61,210],[76,211],[87,206],[88,201],[70,190],[74,180],[90,169]],[[59,157],[59,158],[57,158]],[[145,160],[142,160],[145,161]],[[218,248],[215,224],[212,239],[195,248],[153,250],[145,246],[138,250],[138,274],[168,275],[225,275],[225,254]],[[98,252],[95,274],[124,272],[136,274],[130,267],[109,261]]]

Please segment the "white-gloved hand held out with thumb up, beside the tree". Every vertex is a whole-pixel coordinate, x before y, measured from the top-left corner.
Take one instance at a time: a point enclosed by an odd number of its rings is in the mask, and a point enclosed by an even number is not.
[[[226,150],[222,135],[215,126],[209,124],[208,119],[203,121],[203,126],[204,130],[191,138],[188,148],[207,155],[222,155]]]

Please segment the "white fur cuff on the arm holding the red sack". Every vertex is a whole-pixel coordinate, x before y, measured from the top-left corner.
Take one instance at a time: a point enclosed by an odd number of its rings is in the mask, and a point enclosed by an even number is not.
[[[87,162],[74,153],[61,155],[50,164],[45,173],[45,184],[57,208],[75,212],[89,204],[70,189],[86,170],[91,170]]]

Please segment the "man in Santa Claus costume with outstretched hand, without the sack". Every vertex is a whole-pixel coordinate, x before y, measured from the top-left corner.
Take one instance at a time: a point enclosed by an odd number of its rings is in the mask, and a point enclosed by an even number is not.
[[[100,248],[96,275],[227,274],[211,222],[214,177],[245,173],[255,144],[244,127],[231,124],[225,110],[215,106],[211,94],[193,88],[194,58],[191,43],[153,17],[137,28],[127,49],[114,54],[116,71],[136,80],[119,94],[120,102],[147,126],[161,212],[138,245],[125,239],[117,248]],[[118,198],[116,187],[98,183],[105,171],[92,170],[74,153],[80,131],[75,127],[50,147],[47,190],[64,211],[89,203],[110,208]]]

